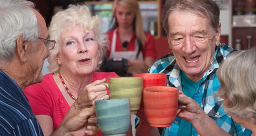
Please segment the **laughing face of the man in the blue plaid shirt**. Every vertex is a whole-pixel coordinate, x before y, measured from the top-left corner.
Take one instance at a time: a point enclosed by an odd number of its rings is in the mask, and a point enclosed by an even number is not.
[[[220,24],[214,33],[209,19],[173,10],[169,15],[168,42],[181,70],[194,82],[208,70],[220,41]]]

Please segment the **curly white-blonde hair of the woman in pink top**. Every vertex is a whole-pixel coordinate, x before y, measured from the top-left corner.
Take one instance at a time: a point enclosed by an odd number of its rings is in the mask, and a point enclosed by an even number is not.
[[[98,45],[100,46],[100,63],[109,45],[108,36],[101,33],[102,20],[99,16],[92,16],[90,10],[85,5],[69,5],[68,9],[62,10],[52,17],[49,26],[50,39],[57,41],[55,47],[50,50],[48,58],[48,70],[52,73],[59,71],[59,64],[55,61],[55,56],[59,53],[59,38],[64,26],[67,24],[80,25],[84,29],[92,30]],[[100,66],[98,66],[99,68]]]

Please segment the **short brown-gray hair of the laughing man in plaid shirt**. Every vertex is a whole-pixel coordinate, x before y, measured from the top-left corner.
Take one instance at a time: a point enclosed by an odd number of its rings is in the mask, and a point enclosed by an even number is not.
[[[213,0],[169,0],[164,5],[164,13],[162,16],[163,28],[169,35],[168,18],[174,9],[191,12],[198,16],[207,17],[216,32],[220,21],[220,8]],[[184,19],[182,19],[184,20]]]

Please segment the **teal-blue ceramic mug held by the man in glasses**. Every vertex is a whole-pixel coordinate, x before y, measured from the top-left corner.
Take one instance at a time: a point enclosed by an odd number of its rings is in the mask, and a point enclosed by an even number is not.
[[[128,98],[95,101],[97,126],[104,136],[126,136],[130,127]]]

